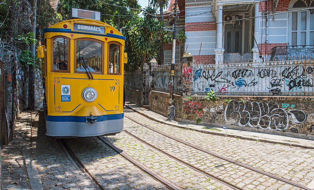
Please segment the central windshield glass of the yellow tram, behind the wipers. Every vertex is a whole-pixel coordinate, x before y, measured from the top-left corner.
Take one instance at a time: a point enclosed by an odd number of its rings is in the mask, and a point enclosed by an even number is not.
[[[79,61],[79,57],[84,61]],[[86,64],[86,65],[85,65]],[[102,44],[93,40],[76,41],[76,72],[98,72],[102,69]]]

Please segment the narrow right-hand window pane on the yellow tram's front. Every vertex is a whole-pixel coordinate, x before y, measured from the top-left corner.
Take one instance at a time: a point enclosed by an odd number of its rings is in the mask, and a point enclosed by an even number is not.
[[[120,45],[116,43],[109,44],[109,57],[108,57],[108,71],[109,74],[120,74]]]

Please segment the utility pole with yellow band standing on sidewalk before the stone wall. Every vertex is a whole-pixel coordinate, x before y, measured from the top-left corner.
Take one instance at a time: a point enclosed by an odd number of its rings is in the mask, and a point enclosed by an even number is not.
[[[174,5],[174,23],[173,23],[173,37],[172,37],[172,59],[171,59],[171,73],[170,73],[170,98],[168,106],[168,120],[175,119],[175,106],[173,105],[173,89],[174,89],[174,76],[175,76],[175,61],[176,61],[176,18],[177,18],[177,0]]]

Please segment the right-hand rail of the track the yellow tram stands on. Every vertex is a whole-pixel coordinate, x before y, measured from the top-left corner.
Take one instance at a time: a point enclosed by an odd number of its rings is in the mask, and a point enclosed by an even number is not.
[[[131,162],[134,166],[141,169],[143,172],[146,172],[150,177],[154,178],[156,181],[159,181],[160,183],[164,184],[167,188],[171,190],[183,190],[181,187],[177,186],[173,182],[167,180],[166,178],[162,177],[158,173],[151,171],[147,166],[144,166],[139,161],[136,161],[131,156],[127,155],[123,152],[123,150],[118,149],[115,145],[113,145],[111,142],[105,139],[105,137],[97,136],[99,140],[101,140],[103,143],[105,143],[107,146],[109,146],[111,149],[115,150],[118,154],[120,154],[122,157],[127,159],[127,161]]]

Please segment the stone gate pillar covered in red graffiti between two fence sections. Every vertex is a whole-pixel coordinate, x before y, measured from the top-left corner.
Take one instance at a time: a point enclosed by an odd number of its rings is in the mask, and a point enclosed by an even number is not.
[[[192,96],[192,63],[193,56],[191,53],[185,53],[182,57],[182,96]]]

